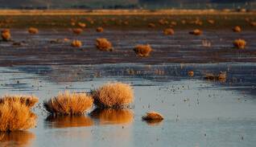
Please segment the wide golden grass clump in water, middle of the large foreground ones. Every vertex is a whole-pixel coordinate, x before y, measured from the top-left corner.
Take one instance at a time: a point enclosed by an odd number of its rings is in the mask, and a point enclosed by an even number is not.
[[[82,115],[92,108],[93,98],[86,93],[60,93],[58,96],[43,102],[44,108],[52,115]]]

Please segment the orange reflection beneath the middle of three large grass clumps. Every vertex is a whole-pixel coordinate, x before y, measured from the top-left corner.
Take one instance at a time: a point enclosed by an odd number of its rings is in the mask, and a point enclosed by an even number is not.
[[[68,128],[92,126],[93,120],[89,116],[47,116],[47,128]]]

